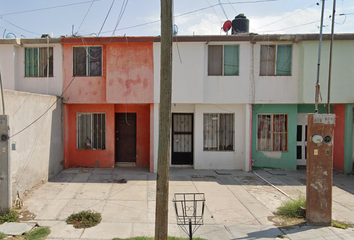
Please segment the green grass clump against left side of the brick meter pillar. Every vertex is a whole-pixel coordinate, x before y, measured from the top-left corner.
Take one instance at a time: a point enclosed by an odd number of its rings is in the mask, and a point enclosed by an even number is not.
[[[306,198],[299,196],[296,200],[288,200],[278,207],[277,215],[289,218],[305,218],[304,211],[301,209],[306,207]]]

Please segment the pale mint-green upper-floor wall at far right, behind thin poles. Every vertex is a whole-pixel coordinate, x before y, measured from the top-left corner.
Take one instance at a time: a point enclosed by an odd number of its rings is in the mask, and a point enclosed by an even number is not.
[[[318,41],[299,43],[300,75],[299,103],[314,103],[317,79]],[[331,103],[354,102],[354,41],[336,40],[333,44]],[[323,102],[327,102],[329,41],[323,41],[320,65],[320,85]]]

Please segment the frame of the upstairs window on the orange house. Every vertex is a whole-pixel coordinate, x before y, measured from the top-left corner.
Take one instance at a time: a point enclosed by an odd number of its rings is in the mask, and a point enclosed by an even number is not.
[[[76,56],[74,55],[75,54],[75,51],[74,49],[78,49],[78,48],[83,48],[85,49],[85,75],[78,75],[77,74],[77,69],[76,69],[76,61],[74,61],[74,59],[76,59]],[[100,52],[100,56],[99,56],[99,60],[100,60],[100,65],[101,65],[101,68],[100,68],[100,75],[91,75],[91,72],[90,72],[90,54],[88,53],[88,51],[90,51],[91,48],[100,48],[101,49],[101,52]],[[83,63],[80,63],[80,64],[83,64]],[[103,76],[103,47],[101,45],[92,45],[92,46],[73,46],[72,47],[72,75],[73,77],[102,77]]]

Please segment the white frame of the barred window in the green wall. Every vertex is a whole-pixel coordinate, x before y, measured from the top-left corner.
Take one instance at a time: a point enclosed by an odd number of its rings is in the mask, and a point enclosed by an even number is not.
[[[270,150],[261,150],[259,146],[259,117],[260,116],[270,116],[271,117],[271,122],[270,122]],[[280,131],[280,132],[275,132],[274,131],[274,116],[286,116],[286,132]],[[257,113],[257,119],[256,119],[256,149],[257,152],[289,152],[289,114],[288,113]],[[286,150],[274,150],[274,135],[281,135],[285,134],[286,135]]]

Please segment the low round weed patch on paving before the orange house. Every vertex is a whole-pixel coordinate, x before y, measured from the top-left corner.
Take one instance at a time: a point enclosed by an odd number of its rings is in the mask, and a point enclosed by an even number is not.
[[[67,219],[67,224],[73,224],[74,228],[89,228],[98,225],[102,220],[101,214],[92,210],[81,211],[71,214]]]

